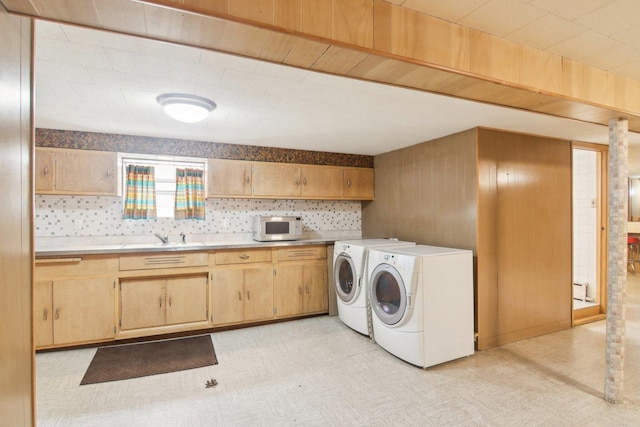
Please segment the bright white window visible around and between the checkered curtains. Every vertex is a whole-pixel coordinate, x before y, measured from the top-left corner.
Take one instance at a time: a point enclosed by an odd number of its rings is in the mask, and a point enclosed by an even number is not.
[[[176,169],[190,168],[206,175],[206,160],[192,157],[154,156],[147,154],[118,154],[122,171],[118,188],[121,195],[127,194],[127,167],[129,165],[153,166],[156,181],[156,209],[158,218],[173,218],[176,197]],[[206,194],[206,191],[205,191]],[[125,201],[126,202],[126,201]]]

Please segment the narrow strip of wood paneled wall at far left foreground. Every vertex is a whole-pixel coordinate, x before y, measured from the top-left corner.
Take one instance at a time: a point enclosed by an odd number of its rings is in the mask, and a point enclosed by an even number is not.
[[[31,322],[31,20],[0,5],[0,424],[35,424]]]

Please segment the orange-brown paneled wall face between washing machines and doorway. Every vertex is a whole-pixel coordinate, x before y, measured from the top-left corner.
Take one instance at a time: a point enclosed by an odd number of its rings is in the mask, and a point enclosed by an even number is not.
[[[478,130],[478,349],[571,326],[571,142]]]

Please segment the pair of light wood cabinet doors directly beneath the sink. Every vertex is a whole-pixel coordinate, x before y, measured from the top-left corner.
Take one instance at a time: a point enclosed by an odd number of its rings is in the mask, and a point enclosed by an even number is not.
[[[207,322],[207,276],[120,281],[121,331]]]

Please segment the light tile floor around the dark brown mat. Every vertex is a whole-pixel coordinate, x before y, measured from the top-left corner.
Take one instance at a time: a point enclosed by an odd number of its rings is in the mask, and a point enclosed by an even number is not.
[[[79,386],[95,349],[40,353],[38,425],[637,426],[640,278],[627,286],[619,405],[603,399],[605,321],[422,370],[322,316],[214,333],[216,366],[112,383]]]

